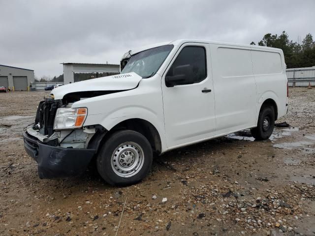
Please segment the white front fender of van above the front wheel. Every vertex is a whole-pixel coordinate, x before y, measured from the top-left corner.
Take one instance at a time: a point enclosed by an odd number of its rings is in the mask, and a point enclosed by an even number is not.
[[[75,102],[72,107],[88,107],[84,125],[100,124],[107,130],[127,119],[144,119],[158,130],[163,152],[167,145],[161,93],[160,76],[156,74],[142,79],[136,89],[87,98]]]

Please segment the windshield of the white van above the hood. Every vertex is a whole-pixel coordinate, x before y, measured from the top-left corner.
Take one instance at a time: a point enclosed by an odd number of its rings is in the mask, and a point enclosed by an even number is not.
[[[173,47],[174,45],[164,45],[132,55],[127,59],[127,63],[125,61],[122,74],[135,72],[142,78],[155,75]]]

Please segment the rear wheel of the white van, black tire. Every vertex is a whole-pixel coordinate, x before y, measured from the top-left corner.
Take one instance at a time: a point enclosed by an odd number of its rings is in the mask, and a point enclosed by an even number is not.
[[[264,126],[267,120],[268,126]],[[266,124],[266,123],[265,123]],[[275,127],[275,111],[273,107],[265,106],[260,109],[257,127],[251,129],[252,137],[256,140],[269,139]]]

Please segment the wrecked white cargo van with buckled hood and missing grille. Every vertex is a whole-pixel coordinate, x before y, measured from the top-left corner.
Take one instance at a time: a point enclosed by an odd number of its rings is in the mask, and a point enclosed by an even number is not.
[[[244,129],[268,139],[288,105],[282,50],[193,39],[130,50],[121,74],[51,94],[24,133],[39,177],[79,175],[96,160],[113,185],[143,179],[154,153]]]

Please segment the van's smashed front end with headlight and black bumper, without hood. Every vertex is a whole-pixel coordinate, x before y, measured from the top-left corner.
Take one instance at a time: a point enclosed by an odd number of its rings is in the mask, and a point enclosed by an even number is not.
[[[86,170],[106,133],[100,125],[83,126],[86,116],[86,108],[72,109],[62,100],[39,103],[35,123],[24,132],[24,146],[38,163],[40,178],[77,176]]]

